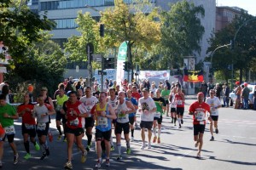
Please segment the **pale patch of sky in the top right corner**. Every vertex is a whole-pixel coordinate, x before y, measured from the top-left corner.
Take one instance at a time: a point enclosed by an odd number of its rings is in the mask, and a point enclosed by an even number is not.
[[[256,16],[256,0],[216,0],[217,6],[236,6],[248,11],[248,14]]]

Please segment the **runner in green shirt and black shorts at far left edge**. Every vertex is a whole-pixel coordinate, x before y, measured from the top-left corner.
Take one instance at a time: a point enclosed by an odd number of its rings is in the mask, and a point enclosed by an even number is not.
[[[18,150],[14,142],[15,139],[15,121],[18,119],[18,113],[15,111],[15,108],[12,105],[6,103],[6,96],[0,94],[0,123],[5,130],[6,138],[8,139],[9,146],[14,151],[14,164],[17,164],[19,161]],[[3,141],[5,140],[3,138]]]

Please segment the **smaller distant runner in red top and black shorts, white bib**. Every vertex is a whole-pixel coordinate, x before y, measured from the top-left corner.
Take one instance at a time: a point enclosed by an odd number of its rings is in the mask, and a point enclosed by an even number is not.
[[[185,108],[185,97],[181,90],[181,88],[177,88],[177,94],[175,94],[175,102],[177,105],[176,113],[177,113],[177,122],[179,124],[178,128],[181,128],[181,124],[183,124],[183,114]]]

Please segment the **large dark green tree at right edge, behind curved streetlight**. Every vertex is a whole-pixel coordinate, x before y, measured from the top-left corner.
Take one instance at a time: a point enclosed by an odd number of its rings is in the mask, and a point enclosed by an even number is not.
[[[255,36],[252,35],[256,35],[256,20],[252,19],[252,15],[242,13],[241,16],[236,16],[230,25],[216,32],[215,36],[212,35],[209,39],[211,46],[207,49],[207,52],[212,52],[218,46],[229,44],[237,32],[234,50],[219,48],[212,55],[213,69],[219,71],[219,74],[223,74],[221,77],[226,82],[231,77],[231,71],[227,70],[227,68],[232,63],[234,64],[235,73],[244,72],[243,76],[240,75],[240,81],[242,81],[242,77],[247,81],[247,72],[253,70],[256,58],[256,41]],[[247,20],[252,21],[247,23]],[[210,61],[211,58],[208,57],[207,60]],[[236,77],[236,74],[234,77]]]

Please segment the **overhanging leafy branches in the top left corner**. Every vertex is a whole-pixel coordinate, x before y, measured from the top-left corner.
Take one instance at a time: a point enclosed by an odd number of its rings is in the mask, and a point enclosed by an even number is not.
[[[26,58],[32,42],[43,38],[39,31],[51,30],[55,26],[45,14],[32,13],[25,3],[23,0],[0,3],[0,41],[9,48],[12,59],[20,63]]]

